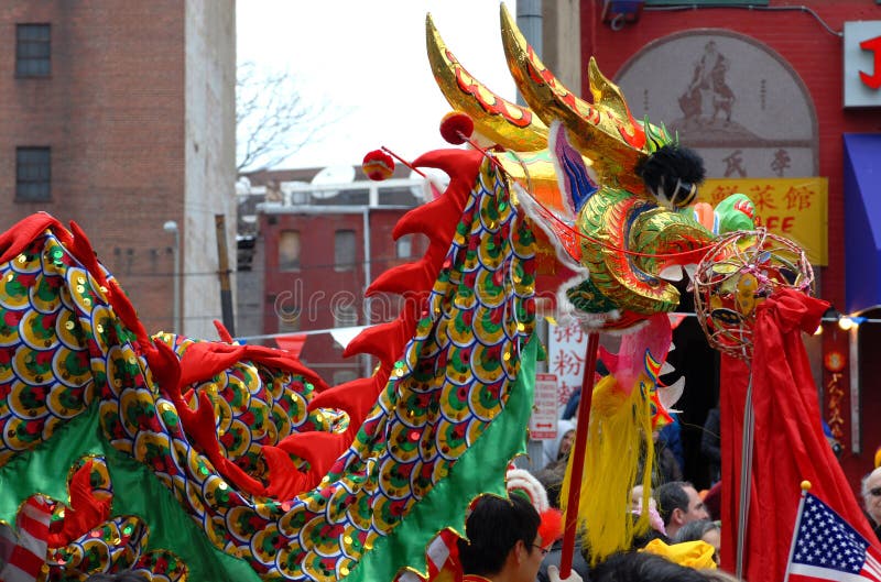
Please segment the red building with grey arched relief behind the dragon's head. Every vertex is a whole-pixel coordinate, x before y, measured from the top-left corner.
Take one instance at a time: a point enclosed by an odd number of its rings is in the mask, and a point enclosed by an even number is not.
[[[676,129],[683,142],[703,154],[710,178],[826,182],[826,211],[809,228],[809,234],[825,238],[817,244],[826,245],[825,259],[812,256],[817,294],[841,314],[877,314],[881,207],[872,201],[877,196],[867,196],[877,191],[866,191],[868,183],[877,183],[867,179],[872,164],[857,160],[881,155],[881,94],[877,87],[866,90],[874,101],[861,108],[846,107],[844,97],[848,83],[859,84],[856,72],[847,76],[846,62],[862,58],[862,70],[872,74],[871,47],[848,52],[846,23],[879,24],[881,6],[870,0],[720,3],[583,0],[583,62],[591,55],[597,59],[628,96],[634,117],[649,116]],[[863,40],[872,35],[878,41],[881,26]],[[588,95],[585,83],[581,94]],[[852,134],[860,134],[860,143]],[[791,201],[777,200],[776,208],[766,210],[780,213]],[[822,339],[808,340],[824,416],[845,444],[842,465],[853,483],[871,468],[881,444],[874,421],[881,415],[881,363],[868,358],[879,345],[881,326],[861,328],[845,332],[830,321]],[[697,338],[677,339],[674,354],[688,341],[694,342],[689,349],[698,349]],[[686,389],[694,399],[684,406],[685,419],[700,426],[718,383],[706,363],[711,355],[690,360],[684,365],[704,383],[700,391]]]

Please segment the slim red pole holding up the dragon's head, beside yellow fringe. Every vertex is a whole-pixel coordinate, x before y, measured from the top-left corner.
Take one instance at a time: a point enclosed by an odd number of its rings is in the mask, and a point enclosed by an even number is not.
[[[573,465],[569,481],[569,496],[566,501],[566,527],[563,530],[563,553],[559,557],[559,578],[566,579],[572,572],[572,556],[575,549],[575,532],[578,519],[578,503],[581,493],[581,476],[585,472],[585,449],[587,448],[587,426],[590,421],[590,400],[594,397],[594,373],[597,370],[597,348],[599,333],[587,334],[585,352],[585,375],[581,376],[581,400],[578,403],[578,425],[575,429],[575,446],[572,449]]]

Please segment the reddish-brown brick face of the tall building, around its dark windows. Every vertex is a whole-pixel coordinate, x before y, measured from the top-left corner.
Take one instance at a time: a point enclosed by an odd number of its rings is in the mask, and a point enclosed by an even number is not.
[[[180,0],[7,0],[0,11],[0,230],[37,210],[75,220],[149,331],[172,322],[183,226],[184,7]],[[15,24],[52,25],[52,75],[15,78]],[[52,147],[52,201],[20,204],[15,147]]]

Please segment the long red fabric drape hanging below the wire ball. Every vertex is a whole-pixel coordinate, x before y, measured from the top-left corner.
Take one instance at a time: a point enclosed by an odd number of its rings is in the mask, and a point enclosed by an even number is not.
[[[774,293],[758,309],[753,327],[752,402],[755,417],[749,519],[743,574],[749,582],[783,580],[800,483],[826,502],[863,536],[867,523],[838,460],[823,436],[817,387],[802,331],[819,325],[826,301],[793,289]],[[722,356],[722,568],[735,571],[740,494],[743,405],[750,369]]]

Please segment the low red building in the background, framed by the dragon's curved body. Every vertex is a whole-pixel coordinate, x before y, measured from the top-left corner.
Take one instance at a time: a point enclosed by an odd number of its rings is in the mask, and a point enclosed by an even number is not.
[[[365,299],[370,282],[427,250],[423,235],[392,240],[398,220],[425,199],[424,180],[399,167],[387,182],[312,184],[317,168],[262,172],[240,187],[239,337],[287,334],[253,341],[291,348],[311,332],[301,359],[330,384],[369,375],[366,356],[344,359],[328,330],[390,321],[401,298]],[[320,178],[318,178],[320,179]],[[257,204],[254,204],[257,202]],[[300,349],[300,345],[295,350]]]

